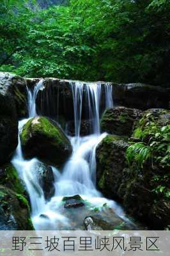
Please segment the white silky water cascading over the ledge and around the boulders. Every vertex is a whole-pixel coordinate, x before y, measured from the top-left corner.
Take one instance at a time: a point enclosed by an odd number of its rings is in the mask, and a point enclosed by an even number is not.
[[[37,116],[36,114],[36,95],[38,90],[41,90],[43,80],[36,84],[34,91],[28,90],[28,108],[29,118]],[[43,189],[41,188],[36,177],[36,164],[40,163],[38,159],[24,160],[22,156],[22,148],[19,145],[12,163],[17,168],[20,178],[26,184],[27,192],[31,201],[31,217],[36,229],[51,230],[51,229],[72,229],[70,222],[73,218],[77,218],[77,212],[83,218],[89,214],[89,210],[74,209],[75,212],[68,212],[61,206],[63,196],[81,195],[83,199],[88,200],[90,209],[100,207],[107,203],[116,214],[123,216],[123,211],[115,202],[107,200],[97,191],[96,183],[96,160],[95,150],[98,143],[105,137],[100,134],[100,99],[102,90],[105,95],[105,106],[109,108],[113,106],[112,102],[112,86],[106,84],[102,87],[100,83],[82,83],[70,82],[70,88],[73,95],[73,111],[75,122],[75,136],[69,137],[73,147],[73,153],[70,159],[66,162],[63,170],[59,172],[52,167],[55,177],[55,195],[50,201],[46,201]],[[91,120],[91,132],[88,136],[81,137],[81,116],[82,104],[86,102],[88,106],[88,119]],[[24,124],[29,118],[19,122],[19,134]],[[45,218],[44,218],[45,216]],[[70,221],[70,218],[72,221]],[[125,219],[125,218],[124,218]],[[82,222],[77,220],[77,222]],[[75,225],[74,228],[82,229],[81,225]]]

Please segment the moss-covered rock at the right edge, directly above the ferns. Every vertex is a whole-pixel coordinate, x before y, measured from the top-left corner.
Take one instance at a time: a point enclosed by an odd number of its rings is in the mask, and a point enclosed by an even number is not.
[[[132,136],[148,141],[161,127],[170,124],[170,111],[167,109],[148,109],[135,125]]]

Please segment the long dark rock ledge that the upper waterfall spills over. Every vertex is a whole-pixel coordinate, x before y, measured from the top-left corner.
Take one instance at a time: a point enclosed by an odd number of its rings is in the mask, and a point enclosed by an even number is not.
[[[34,88],[40,81],[38,78],[26,79],[27,86]],[[71,81],[56,78],[43,79],[43,86],[36,97],[36,110],[38,114],[58,116],[64,115],[73,120],[73,97],[70,84],[101,84],[100,109],[105,105],[105,86],[112,86],[112,99],[114,105],[146,110],[149,108],[168,108],[169,88],[151,86],[148,84],[116,84],[107,82]],[[50,109],[49,109],[50,105]],[[56,112],[56,109],[57,112]],[[82,102],[82,118],[86,119],[86,104]]]

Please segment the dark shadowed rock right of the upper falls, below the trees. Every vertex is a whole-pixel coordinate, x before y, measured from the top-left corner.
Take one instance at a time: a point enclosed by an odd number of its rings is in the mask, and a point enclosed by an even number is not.
[[[149,108],[169,108],[170,88],[149,84],[112,84],[114,104],[127,108],[146,110]]]

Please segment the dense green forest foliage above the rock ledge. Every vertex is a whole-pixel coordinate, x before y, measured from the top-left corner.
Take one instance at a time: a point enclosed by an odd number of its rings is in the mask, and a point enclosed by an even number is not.
[[[169,0],[1,1],[0,71],[169,85]]]

